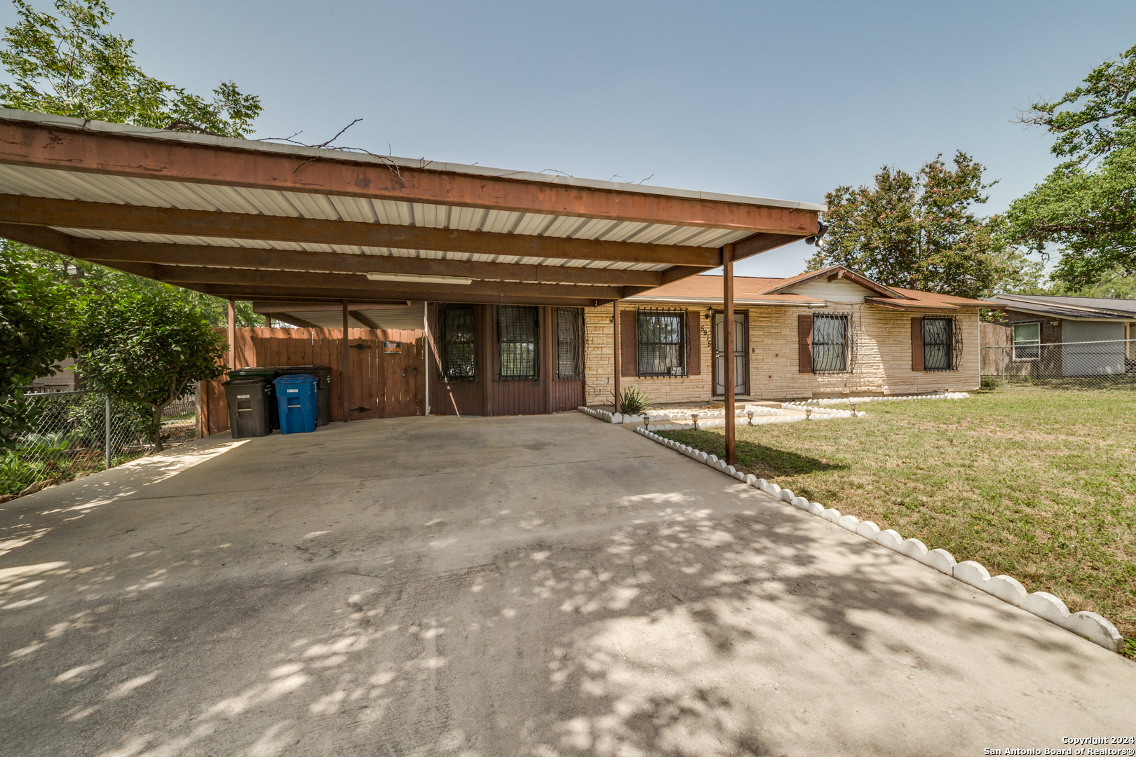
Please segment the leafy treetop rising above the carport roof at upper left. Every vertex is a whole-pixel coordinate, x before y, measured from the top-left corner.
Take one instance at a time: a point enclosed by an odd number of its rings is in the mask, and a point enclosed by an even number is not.
[[[55,0],[58,16],[12,0],[18,23],[5,30],[0,84],[8,108],[153,128],[245,137],[262,110],[260,99],[233,82],[214,99],[148,76],[134,60],[134,41],[103,27],[114,12],[103,0]]]

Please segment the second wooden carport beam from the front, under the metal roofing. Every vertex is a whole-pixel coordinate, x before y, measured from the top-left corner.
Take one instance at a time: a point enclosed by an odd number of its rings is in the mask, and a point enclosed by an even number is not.
[[[712,247],[463,232],[321,218],[223,213],[208,210],[123,205],[111,202],[76,202],[17,194],[0,194],[0,222],[103,232],[671,266],[713,266],[719,256],[718,251]]]

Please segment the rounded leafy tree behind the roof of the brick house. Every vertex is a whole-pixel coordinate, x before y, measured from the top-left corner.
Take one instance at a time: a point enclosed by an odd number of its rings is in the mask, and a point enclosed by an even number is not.
[[[985,167],[964,152],[942,155],[912,176],[884,166],[872,186],[827,195],[824,246],[809,269],[842,264],[889,286],[961,297],[1033,286],[1041,263],[1006,243],[1005,221],[984,218]]]

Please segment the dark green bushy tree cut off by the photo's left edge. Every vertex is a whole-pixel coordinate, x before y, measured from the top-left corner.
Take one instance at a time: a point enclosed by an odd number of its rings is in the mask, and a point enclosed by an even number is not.
[[[75,355],[78,304],[73,286],[0,254],[0,446],[28,430],[24,387]]]

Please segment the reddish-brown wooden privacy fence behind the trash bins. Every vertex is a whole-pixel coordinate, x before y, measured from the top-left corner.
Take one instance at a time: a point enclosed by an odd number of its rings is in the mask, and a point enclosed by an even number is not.
[[[217,329],[224,333],[225,329]],[[343,329],[239,328],[234,368],[326,365],[332,369],[331,420],[423,415],[426,409],[425,331],[348,329],[348,381],[343,380]],[[202,381],[202,436],[228,430],[224,379]]]

